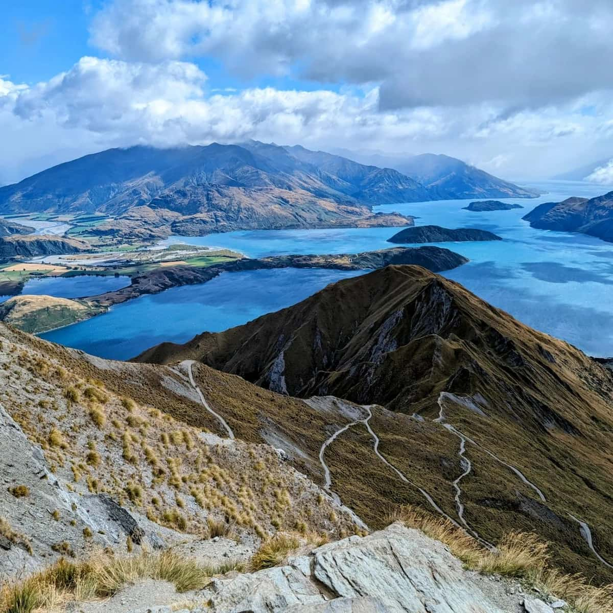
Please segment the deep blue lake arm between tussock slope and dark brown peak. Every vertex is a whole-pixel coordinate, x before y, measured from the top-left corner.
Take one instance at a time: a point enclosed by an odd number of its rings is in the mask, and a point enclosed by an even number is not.
[[[162,341],[185,343],[204,330],[220,332],[244,324],[360,274],[321,268],[223,273],[208,283],[140,296],[41,336],[96,356],[128,359]]]

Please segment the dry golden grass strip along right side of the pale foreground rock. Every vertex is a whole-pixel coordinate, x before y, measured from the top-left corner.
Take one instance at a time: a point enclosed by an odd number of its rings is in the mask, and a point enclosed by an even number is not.
[[[548,545],[534,533],[510,533],[496,550],[489,551],[449,520],[412,506],[395,509],[390,520],[400,521],[446,544],[468,568],[523,579],[541,592],[565,600],[574,613],[613,613],[613,584],[596,587],[581,574],[551,568]]]

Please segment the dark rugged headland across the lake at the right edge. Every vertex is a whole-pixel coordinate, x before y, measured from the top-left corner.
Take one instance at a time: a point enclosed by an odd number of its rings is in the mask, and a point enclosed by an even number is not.
[[[581,232],[613,242],[613,192],[592,199],[572,197],[546,202],[522,219],[541,230]]]

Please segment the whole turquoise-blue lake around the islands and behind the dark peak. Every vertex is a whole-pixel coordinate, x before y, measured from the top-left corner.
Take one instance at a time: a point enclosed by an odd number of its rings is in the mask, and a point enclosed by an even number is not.
[[[440,243],[470,258],[443,273],[520,321],[563,338],[593,356],[613,356],[613,243],[581,234],[532,229],[522,215],[541,202],[592,197],[601,186],[574,181],[538,185],[547,194],[509,199],[524,209],[474,213],[469,200],[439,200],[376,207],[416,216],[416,224],[476,227],[503,241]],[[170,237],[178,241],[242,251],[250,257],[288,253],[357,253],[384,249],[400,228],[259,230]],[[86,322],[42,335],[103,357],[123,359],[162,340],[183,342],[204,330],[242,324],[287,307],[345,278],[341,271],[293,270],[225,273],[200,286],[175,287],[113,307]]]

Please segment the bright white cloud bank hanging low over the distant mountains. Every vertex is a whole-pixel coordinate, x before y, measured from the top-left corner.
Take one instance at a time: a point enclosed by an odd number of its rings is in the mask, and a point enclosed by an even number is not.
[[[432,151],[506,178],[543,177],[579,166],[581,156],[609,156],[611,131],[603,125],[611,117],[607,96],[540,110],[478,104],[383,112],[377,86],[219,92],[192,63],[82,58],[34,86],[0,79],[0,182],[109,147],[248,138],[327,150]]]

